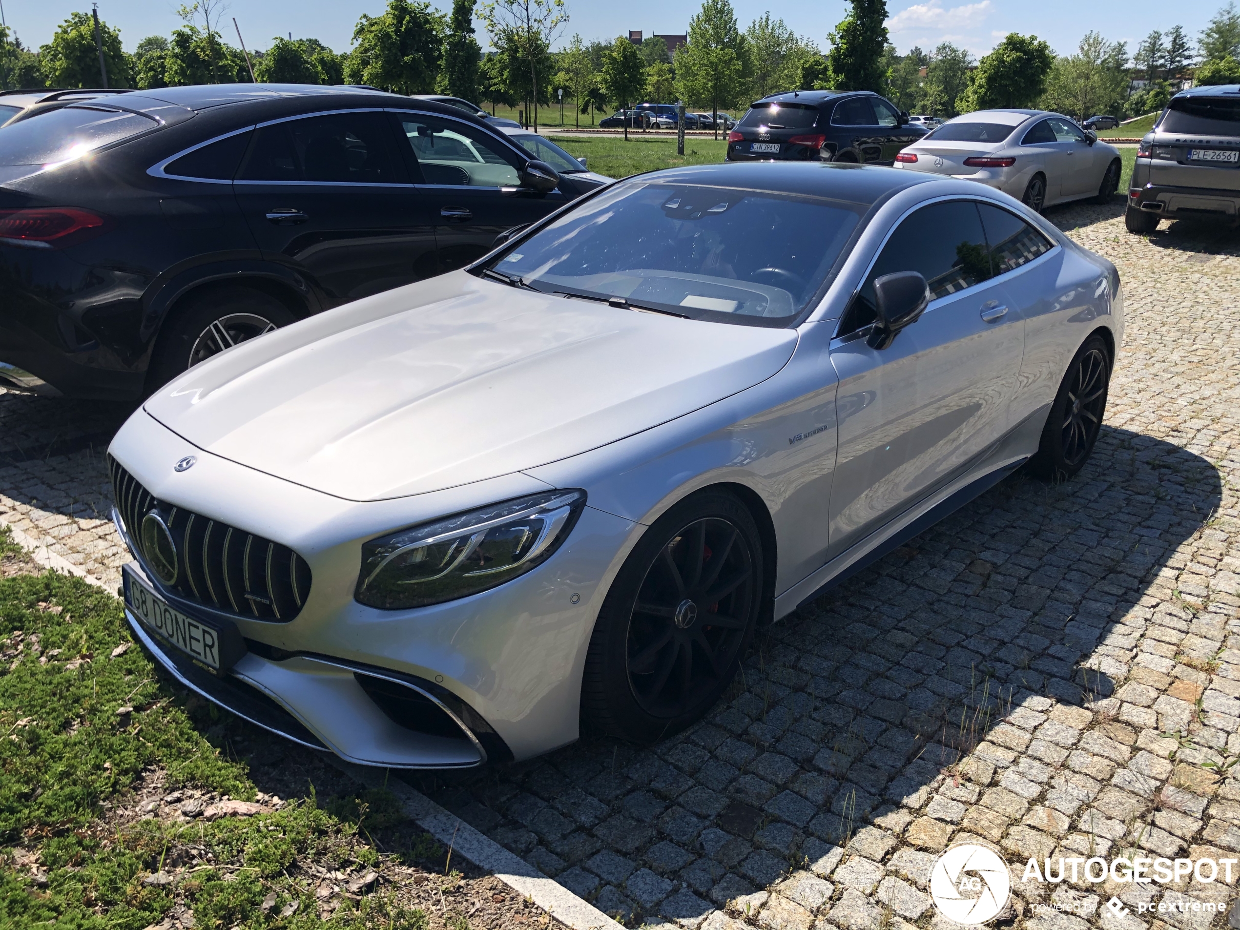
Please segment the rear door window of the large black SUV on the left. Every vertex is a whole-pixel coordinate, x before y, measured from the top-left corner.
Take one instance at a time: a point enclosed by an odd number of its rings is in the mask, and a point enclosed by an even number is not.
[[[401,184],[379,113],[334,113],[260,126],[242,181]]]

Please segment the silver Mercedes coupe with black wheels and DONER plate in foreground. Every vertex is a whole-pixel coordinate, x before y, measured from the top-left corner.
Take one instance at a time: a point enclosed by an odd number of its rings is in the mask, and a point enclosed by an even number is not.
[[[1066,480],[1115,267],[993,188],[724,164],[191,368],[109,449],[134,636],[384,766],[640,743],[755,629],[1028,463]]]

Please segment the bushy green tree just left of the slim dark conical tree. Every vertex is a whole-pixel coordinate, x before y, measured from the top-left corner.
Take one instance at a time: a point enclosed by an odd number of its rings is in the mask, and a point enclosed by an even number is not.
[[[434,93],[444,47],[443,16],[425,0],[388,0],[378,16],[362,14],[345,81],[401,94]]]

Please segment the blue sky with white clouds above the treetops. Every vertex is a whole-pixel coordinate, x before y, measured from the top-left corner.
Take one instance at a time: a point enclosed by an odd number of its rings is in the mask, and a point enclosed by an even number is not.
[[[74,10],[89,10],[83,0],[0,0],[5,22],[27,46],[47,42],[58,24]],[[988,52],[1008,32],[1034,33],[1050,42],[1059,53],[1070,53],[1080,37],[1090,30],[1111,41],[1126,41],[1128,51],[1151,30],[1167,31],[1180,25],[1197,40],[1214,11],[1224,0],[1193,0],[1168,4],[1166,0],[888,0],[888,30],[892,41],[903,53],[914,45],[923,50],[940,42],[954,42],[973,55]],[[226,0],[226,5],[227,0]],[[434,6],[448,10],[450,0],[438,0]],[[844,0],[733,0],[742,29],[771,10],[796,32],[826,47],[826,35],[843,19]],[[181,25],[176,15],[180,1],[172,0],[100,0],[99,16],[120,29],[126,50],[153,33],[169,35]],[[382,12],[384,0],[233,0],[224,14],[226,41],[236,42],[232,17],[241,25],[246,45],[267,48],[274,36],[289,32],[294,38],[317,38],[337,52],[347,51],[353,26],[361,14]],[[640,29],[646,35],[680,33],[688,29],[689,17],[701,7],[701,0],[627,0],[620,11],[604,0],[565,0],[569,21],[564,38],[574,32],[587,41],[610,38]],[[486,47],[486,36],[479,25],[479,41]]]

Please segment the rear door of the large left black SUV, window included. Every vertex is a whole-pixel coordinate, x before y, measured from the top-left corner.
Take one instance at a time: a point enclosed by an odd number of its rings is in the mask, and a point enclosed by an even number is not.
[[[329,306],[436,272],[434,223],[382,110],[259,125],[233,191],[264,257],[311,278]]]

